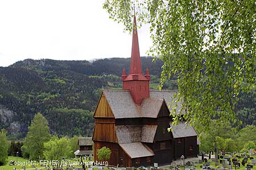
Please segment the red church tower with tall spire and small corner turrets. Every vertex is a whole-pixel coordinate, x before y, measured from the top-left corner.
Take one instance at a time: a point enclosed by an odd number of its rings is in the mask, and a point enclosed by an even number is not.
[[[146,75],[142,73],[141,57],[139,55],[139,40],[136,24],[136,16],[134,13],[133,20],[133,44],[131,47],[130,74],[126,75],[123,68],[122,81],[123,90],[130,90],[131,96],[135,104],[141,104],[143,98],[150,97],[150,73],[146,69]]]

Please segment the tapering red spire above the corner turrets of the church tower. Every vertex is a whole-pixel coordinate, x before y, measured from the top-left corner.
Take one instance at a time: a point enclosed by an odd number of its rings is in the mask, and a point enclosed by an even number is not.
[[[134,11],[134,18],[133,18],[133,44],[131,46],[130,74],[142,74],[141,56],[139,55],[139,40],[138,40],[135,11]]]

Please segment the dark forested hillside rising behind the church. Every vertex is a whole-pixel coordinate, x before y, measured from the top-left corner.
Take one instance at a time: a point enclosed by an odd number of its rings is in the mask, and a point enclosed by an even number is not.
[[[93,133],[93,111],[102,88],[121,89],[121,74],[129,74],[130,58],[89,61],[26,59],[0,67],[0,129],[9,139],[23,138],[32,117],[42,113],[52,134],[64,136]],[[158,88],[162,62],[142,57],[143,71],[150,69],[151,88]],[[174,76],[163,89],[177,89]],[[256,92],[241,95],[237,116],[243,125],[256,125]]]

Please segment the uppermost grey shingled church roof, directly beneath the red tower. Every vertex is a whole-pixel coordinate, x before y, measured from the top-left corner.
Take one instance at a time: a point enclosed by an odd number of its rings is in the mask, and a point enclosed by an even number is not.
[[[150,91],[150,98],[143,99],[141,106],[134,104],[130,91],[104,90],[106,100],[112,109],[115,118],[156,118],[162,104],[169,105],[174,96],[173,91]],[[181,105],[178,105],[178,110]],[[171,109],[171,108],[170,108]]]

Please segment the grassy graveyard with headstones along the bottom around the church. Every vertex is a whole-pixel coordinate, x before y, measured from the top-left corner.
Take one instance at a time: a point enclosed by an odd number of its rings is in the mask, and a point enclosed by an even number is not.
[[[46,165],[44,162],[36,162],[35,165],[13,165],[11,161],[15,162],[28,162],[28,160],[23,158],[16,158],[14,156],[9,156],[9,165],[0,166],[1,170],[102,170],[102,169],[111,169],[111,170],[197,170],[197,169],[245,169],[245,170],[254,170],[256,169],[256,154],[254,150],[243,153],[226,153],[225,155],[218,155],[218,161],[214,158],[214,155],[199,154],[197,158],[185,159],[181,155],[180,160],[174,160],[172,163],[164,166],[159,166],[158,163],[154,163],[152,166],[148,167],[110,167],[108,165],[93,165],[86,164],[86,162],[93,162],[93,156],[83,155],[81,158],[73,159],[63,159],[62,162],[66,164],[61,164],[59,166]],[[69,162],[69,163],[67,163]],[[82,164],[84,162],[84,164]],[[73,163],[70,164],[70,163]]]

